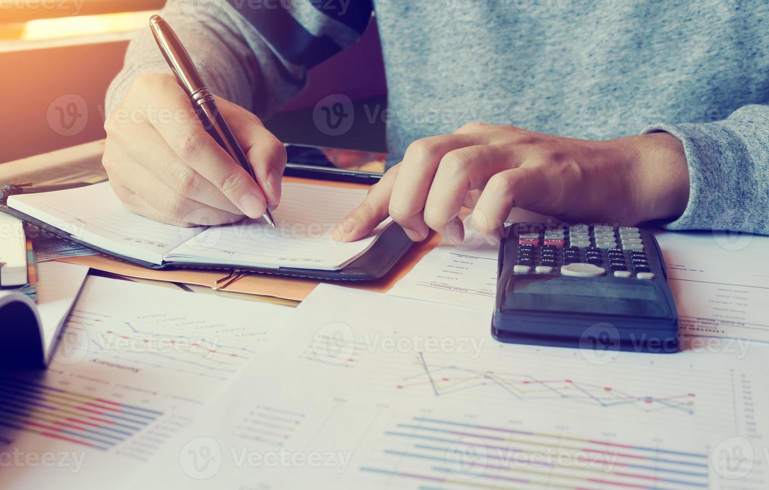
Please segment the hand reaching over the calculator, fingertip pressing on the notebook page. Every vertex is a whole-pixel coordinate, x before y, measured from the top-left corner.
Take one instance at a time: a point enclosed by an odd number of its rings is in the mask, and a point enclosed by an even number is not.
[[[474,229],[496,244],[514,207],[631,226],[681,215],[688,195],[684,149],[671,134],[587,141],[469,123],[411,144],[334,237],[358,240],[389,215],[411,240],[424,240],[431,228],[457,244],[465,206],[474,208]]]

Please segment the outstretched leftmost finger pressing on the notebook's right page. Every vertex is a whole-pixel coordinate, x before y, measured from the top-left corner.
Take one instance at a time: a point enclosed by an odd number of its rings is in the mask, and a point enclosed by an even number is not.
[[[368,196],[361,205],[352,210],[344,220],[341,220],[341,223],[331,233],[335,240],[339,242],[360,240],[368,236],[379,223],[388,217],[390,196],[395,184],[395,177],[398,175],[399,165],[395,165],[387,171],[384,177],[374,187],[371,187]]]

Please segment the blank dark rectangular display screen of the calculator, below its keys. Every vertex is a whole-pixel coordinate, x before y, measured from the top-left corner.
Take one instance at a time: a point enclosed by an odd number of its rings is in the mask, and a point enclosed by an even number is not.
[[[508,283],[505,310],[665,317],[664,294],[651,281],[518,276]]]

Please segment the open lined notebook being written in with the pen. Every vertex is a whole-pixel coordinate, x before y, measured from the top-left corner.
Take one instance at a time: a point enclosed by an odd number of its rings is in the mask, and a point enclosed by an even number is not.
[[[158,223],[126,210],[108,183],[16,195],[8,198],[7,205],[34,218],[33,223],[60,230],[70,240],[150,267],[337,271],[374,247],[391,224],[388,220],[369,237],[352,243],[331,238],[331,230],[365,194],[362,189],[284,184],[280,207],[274,212],[277,229],[261,219],[192,228]],[[388,250],[379,253],[389,262],[408,248],[400,238],[386,241]]]

